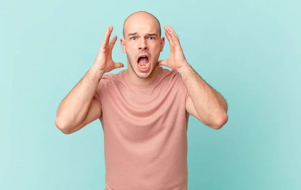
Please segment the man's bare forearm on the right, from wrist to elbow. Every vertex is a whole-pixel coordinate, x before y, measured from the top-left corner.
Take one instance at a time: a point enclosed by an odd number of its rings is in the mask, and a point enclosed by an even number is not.
[[[185,63],[178,72],[182,76],[199,117],[209,125],[220,125],[227,120],[228,106],[220,93],[207,84],[188,63]]]

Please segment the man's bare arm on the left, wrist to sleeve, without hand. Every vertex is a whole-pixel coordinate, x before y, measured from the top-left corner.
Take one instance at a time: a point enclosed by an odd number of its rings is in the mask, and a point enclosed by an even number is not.
[[[103,74],[93,65],[60,103],[55,125],[63,133],[73,133],[100,117],[101,108],[92,98]]]

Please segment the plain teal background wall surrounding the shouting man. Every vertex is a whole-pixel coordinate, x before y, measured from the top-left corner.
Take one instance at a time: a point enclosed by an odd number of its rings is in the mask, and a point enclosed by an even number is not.
[[[190,117],[189,189],[301,189],[301,2],[259,0],[1,1],[0,189],[104,189],[100,122],[65,135],[56,110],[94,63],[106,26],[127,68],[122,24],[140,10],[174,28],[229,104],[220,130]]]

